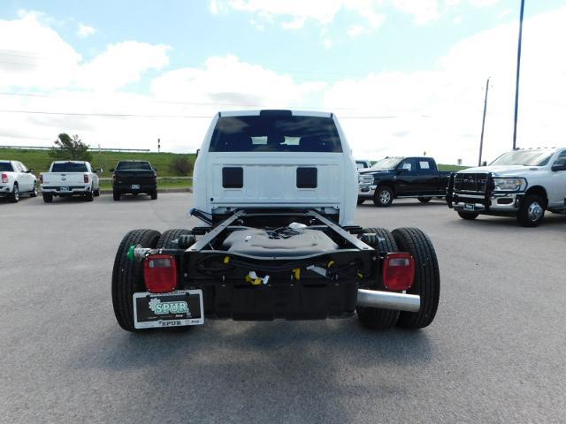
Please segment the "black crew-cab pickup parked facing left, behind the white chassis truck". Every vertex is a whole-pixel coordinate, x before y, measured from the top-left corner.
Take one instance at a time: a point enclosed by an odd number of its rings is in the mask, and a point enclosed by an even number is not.
[[[371,168],[359,170],[357,204],[369,199],[379,207],[394,199],[414,197],[422,203],[446,197],[449,171],[441,171],[432,157],[387,157]]]

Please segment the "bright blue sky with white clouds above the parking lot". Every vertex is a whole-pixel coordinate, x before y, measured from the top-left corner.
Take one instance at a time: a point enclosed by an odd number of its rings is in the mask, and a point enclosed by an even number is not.
[[[4,34],[20,35],[0,40],[0,90],[19,96],[0,95],[0,108],[85,116],[0,113],[0,144],[50,144],[60,128],[103,147],[111,147],[101,140],[109,131],[120,134],[112,147],[118,142],[154,148],[161,134],[172,150],[192,151],[208,125],[205,118],[141,122],[87,115],[208,117],[214,110],[293,107],[337,111],[358,156],[428,151],[444,162],[473,163],[488,76],[495,104],[486,154],[497,155],[509,144],[502,140],[509,137],[519,3],[4,0],[0,35],[3,26]],[[556,102],[564,106],[563,61],[543,54],[562,49],[563,6],[558,0],[526,0],[526,97],[552,111],[523,128],[525,142],[540,128],[552,135]],[[25,72],[14,61],[23,62]],[[554,66],[556,78],[548,96],[528,88],[547,72],[539,66],[545,62]],[[534,109],[540,110],[539,103]],[[14,119],[3,119],[8,116]],[[394,118],[357,119],[366,116]],[[11,128],[12,120],[18,126]],[[135,141],[128,140],[132,133]]]

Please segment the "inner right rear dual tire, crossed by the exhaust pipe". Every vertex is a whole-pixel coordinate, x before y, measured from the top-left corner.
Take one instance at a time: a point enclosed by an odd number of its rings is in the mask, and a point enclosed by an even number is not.
[[[377,246],[380,253],[399,251],[391,232],[382,228],[364,228],[363,232],[375,233],[380,239],[383,239],[382,241],[379,241]],[[376,248],[376,246],[372,247]],[[385,290],[385,288],[379,284],[365,288]],[[395,325],[399,318],[399,311],[380,309],[379,307],[356,307],[356,313],[362,325],[368,329],[389,329]]]

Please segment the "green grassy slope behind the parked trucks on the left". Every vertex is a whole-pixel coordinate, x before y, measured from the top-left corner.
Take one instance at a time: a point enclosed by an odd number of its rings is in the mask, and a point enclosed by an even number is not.
[[[185,156],[190,163],[195,163],[195,154],[179,153],[156,153],[156,152],[101,152],[92,151],[92,165],[95,168],[102,168],[103,173],[99,174],[103,178],[111,178],[111,168],[116,166],[118,161],[126,159],[136,159],[139,161],[149,161],[154,168],[157,168],[157,175],[171,177],[175,175],[171,170],[173,158]],[[35,170],[35,173],[49,170],[53,159],[49,155],[49,150],[34,150],[24,148],[0,148],[0,159],[19,161],[24,163],[27,168]],[[192,174],[192,171],[191,171]]]

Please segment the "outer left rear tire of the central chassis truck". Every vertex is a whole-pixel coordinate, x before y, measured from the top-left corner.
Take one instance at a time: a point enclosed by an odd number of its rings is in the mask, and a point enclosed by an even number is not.
[[[159,231],[134,230],[126,234],[116,253],[114,269],[112,269],[112,306],[114,315],[122,329],[138,331],[134,328],[134,304],[132,296],[135,292],[145,292],[143,283],[143,263],[130,261],[126,254],[130,246],[157,246]]]

